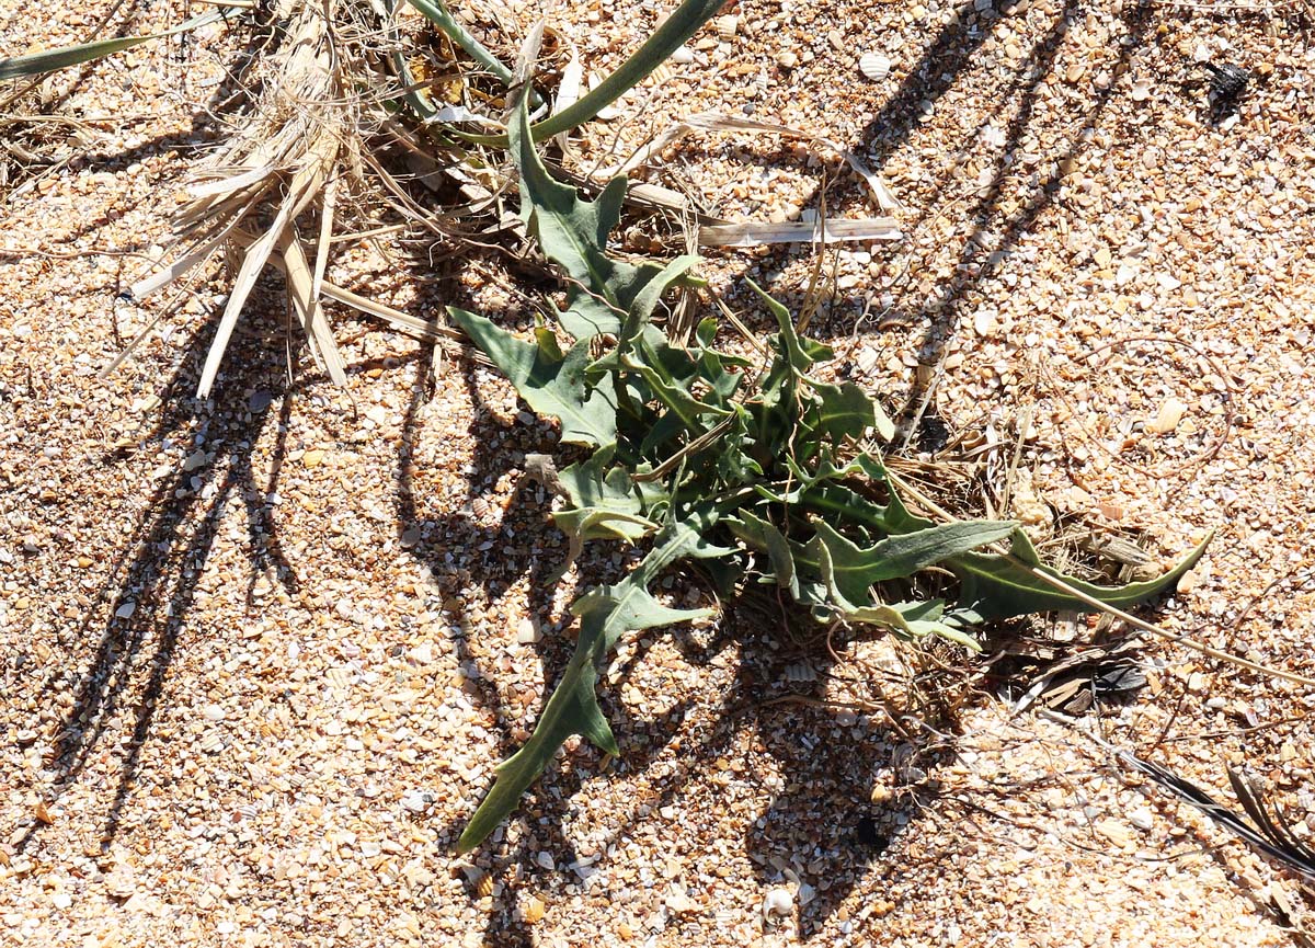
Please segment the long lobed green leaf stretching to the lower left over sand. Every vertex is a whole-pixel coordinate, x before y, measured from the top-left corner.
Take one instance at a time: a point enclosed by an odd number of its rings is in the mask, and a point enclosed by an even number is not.
[[[598,669],[606,663],[617,639],[627,631],[669,626],[710,614],[707,609],[667,609],[648,593],[648,586],[676,560],[731,552],[705,539],[715,522],[715,514],[697,511],[675,523],[663,531],[658,544],[630,576],[614,586],[592,590],[571,607],[580,618],[575,653],[544,705],[534,734],[498,765],[493,789],[462,832],[458,851],[473,849],[515,810],[521,794],[538,780],[567,738],[579,734],[604,751],[618,753],[615,738],[594,694]]]

